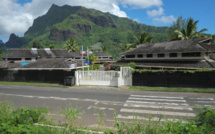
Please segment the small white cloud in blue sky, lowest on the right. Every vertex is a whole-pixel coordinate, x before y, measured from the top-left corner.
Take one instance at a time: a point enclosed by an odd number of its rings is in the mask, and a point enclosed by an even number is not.
[[[170,16],[161,16],[159,18],[154,18],[154,23],[163,23],[163,24],[170,24],[173,21],[176,21],[177,18],[175,18],[173,15]]]

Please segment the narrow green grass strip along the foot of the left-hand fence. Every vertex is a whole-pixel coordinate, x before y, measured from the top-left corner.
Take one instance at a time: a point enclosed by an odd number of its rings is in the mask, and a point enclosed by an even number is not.
[[[63,86],[60,84],[51,84],[51,83],[34,83],[34,82],[8,82],[0,81],[0,85],[29,85],[29,86]]]

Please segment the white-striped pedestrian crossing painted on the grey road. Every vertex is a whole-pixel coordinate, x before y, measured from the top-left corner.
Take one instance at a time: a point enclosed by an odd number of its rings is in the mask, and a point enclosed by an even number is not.
[[[191,106],[190,102],[205,106],[205,104],[213,104],[214,98],[185,99],[184,97],[130,95],[117,118],[148,120],[150,115],[150,120],[154,121],[182,120],[186,122],[186,119],[192,119],[196,115],[193,111],[193,103]]]

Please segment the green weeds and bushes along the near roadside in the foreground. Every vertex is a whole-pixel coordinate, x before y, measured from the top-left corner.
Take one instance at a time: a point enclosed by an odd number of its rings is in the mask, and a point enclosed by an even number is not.
[[[182,121],[164,121],[161,119],[153,121],[138,120],[135,116],[132,122],[125,123],[116,118],[113,129],[101,129],[103,117],[101,111],[98,116],[98,128],[90,130],[87,127],[78,125],[77,119],[81,116],[79,107],[72,107],[71,104],[59,109],[64,115],[66,123],[59,126],[55,124],[46,107],[22,107],[13,108],[12,104],[0,100],[0,132],[1,134],[213,134],[215,133],[215,109],[211,107],[196,107],[196,117]]]

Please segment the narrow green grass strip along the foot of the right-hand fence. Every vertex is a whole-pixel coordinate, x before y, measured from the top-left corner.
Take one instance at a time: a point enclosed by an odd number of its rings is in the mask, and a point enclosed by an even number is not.
[[[215,93],[212,89],[194,89],[194,88],[167,88],[167,87],[133,87],[134,90],[147,90],[147,91],[171,91],[171,92],[199,92],[199,93]]]

